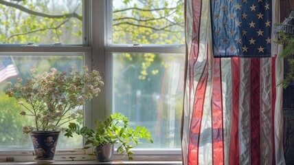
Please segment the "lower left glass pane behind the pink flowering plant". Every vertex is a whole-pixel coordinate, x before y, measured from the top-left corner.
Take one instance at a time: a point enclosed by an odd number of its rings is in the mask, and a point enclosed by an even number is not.
[[[2,55],[2,56],[1,56]],[[34,54],[36,56],[3,56],[0,54],[0,63],[5,59],[11,59],[19,74],[16,76],[8,76],[3,78],[0,76],[0,148],[1,149],[17,149],[17,148],[32,148],[32,142],[29,134],[23,134],[22,128],[25,125],[30,125],[34,122],[29,116],[21,116],[19,113],[23,107],[17,104],[17,101],[8,98],[5,95],[6,83],[11,81],[16,83],[16,78],[21,77],[23,80],[30,76],[32,67],[37,69],[37,72],[49,71],[51,67],[56,67],[61,71],[66,71],[72,65],[77,65],[77,68],[82,68],[84,54]],[[46,56],[45,56],[46,55]],[[0,67],[1,68],[1,67]],[[1,71],[0,71],[1,72]],[[3,80],[5,79],[5,80]],[[67,127],[68,123],[64,126]],[[32,124],[33,126],[33,124]],[[82,148],[82,137],[76,135],[74,138],[67,138],[60,134],[58,140],[58,148]]]

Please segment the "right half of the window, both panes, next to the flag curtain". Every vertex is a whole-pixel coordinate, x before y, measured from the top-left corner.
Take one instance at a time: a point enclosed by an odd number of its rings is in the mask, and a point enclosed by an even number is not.
[[[107,2],[112,6],[106,28],[106,59],[113,64],[109,109],[152,133],[154,143],[138,148],[180,149],[183,1]]]

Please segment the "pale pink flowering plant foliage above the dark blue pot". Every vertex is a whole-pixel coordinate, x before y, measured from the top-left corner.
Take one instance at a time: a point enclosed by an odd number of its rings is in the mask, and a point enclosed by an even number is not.
[[[70,67],[67,72],[52,68],[50,72],[36,74],[36,69],[31,69],[31,77],[24,85],[21,78],[13,86],[8,82],[5,94],[25,108],[21,115],[34,118],[34,126],[23,126],[23,133],[56,131],[66,122],[82,122],[82,105],[98,96],[104,85],[98,71],[88,72],[87,66],[82,72]]]

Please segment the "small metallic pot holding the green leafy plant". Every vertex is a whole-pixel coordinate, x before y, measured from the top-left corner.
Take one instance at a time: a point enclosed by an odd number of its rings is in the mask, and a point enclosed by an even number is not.
[[[114,145],[113,144],[101,144],[96,146],[97,160],[100,162],[109,162],[112,159]]]

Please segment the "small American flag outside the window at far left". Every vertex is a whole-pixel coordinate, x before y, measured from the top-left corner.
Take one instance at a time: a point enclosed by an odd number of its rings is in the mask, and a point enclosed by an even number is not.
[[[17,71],[16,66],[14,65],[10,56],[0,58],[0,83],[2,83],[7,78],[17,76],[18,74],[19,72]]]

